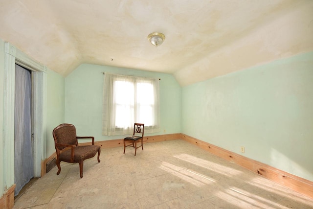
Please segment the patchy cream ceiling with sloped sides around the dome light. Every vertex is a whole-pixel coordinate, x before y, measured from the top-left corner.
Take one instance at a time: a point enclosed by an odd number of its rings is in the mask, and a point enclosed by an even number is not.
[[[312,51],[313,1],[0,0],[0,38],[63,76],[90,63],[185,86]]]

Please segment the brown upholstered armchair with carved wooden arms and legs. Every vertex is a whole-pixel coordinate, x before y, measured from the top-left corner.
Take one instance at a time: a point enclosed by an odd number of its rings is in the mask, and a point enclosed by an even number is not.
[[[94,137],[77,137],[75,126],[67,123],[60,124],[53,129],[52,133],[57,153],[56,165],[59,168],[57,175],[61,172],[61,161],[79,163],[80,178],[83,178],[84,160],[93,158],[98,152],[98,162],[100,163],[101,148],[94,145]],[[78,139],[91,139],[92,145],[78,146]]]

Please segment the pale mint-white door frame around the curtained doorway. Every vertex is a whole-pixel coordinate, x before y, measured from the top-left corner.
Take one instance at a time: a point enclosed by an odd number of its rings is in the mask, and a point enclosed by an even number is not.
[[[4,50],[3,158],[5,162],[4,185],[7,188],[14,185],[15,64],[32,70],[34,177],[41,176],[42,161],[46,158],[46,67],[6,42]]]

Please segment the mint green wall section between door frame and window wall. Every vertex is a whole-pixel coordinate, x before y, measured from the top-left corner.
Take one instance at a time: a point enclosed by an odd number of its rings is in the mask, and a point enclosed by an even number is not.
[[[64,123],[65,117],[65,78],[60,74],[47,70],[47,113],[46,113],[46,157],[54,152],[52,131]]]

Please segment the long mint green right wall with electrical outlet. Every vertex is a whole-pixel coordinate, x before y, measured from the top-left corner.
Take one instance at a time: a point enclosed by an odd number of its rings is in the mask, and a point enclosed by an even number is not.
[[[183,87],[182,130],[313,181],[313,52]]]

